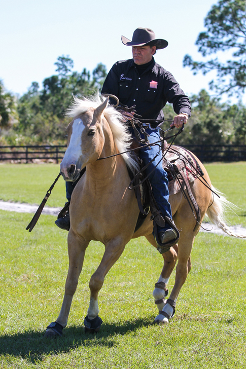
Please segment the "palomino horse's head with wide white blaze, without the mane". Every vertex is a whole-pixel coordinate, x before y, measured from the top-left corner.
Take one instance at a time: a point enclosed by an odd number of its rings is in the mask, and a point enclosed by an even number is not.
[[[77,115],[66,127],[67,150],[60,164],[65,181],[74,182],[81,169],[100,157],[104,145],[101,115],[108,100],[104,100],[97,108],[89,108]]]

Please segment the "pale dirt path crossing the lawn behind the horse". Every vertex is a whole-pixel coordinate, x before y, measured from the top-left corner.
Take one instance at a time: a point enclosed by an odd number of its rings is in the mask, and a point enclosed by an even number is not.
[[[21,203],[17,203],[17,202],[8,202],[8,201],[0,200],[0,209],[1,210],[16,211],[16,212],[19,212],[19,213],[35,213],[36,210],[38,209],[38,207],[39,207],[38,205],[21,204]],[[59,208],[59,207],[51,208],[51,207],[46,207],[45,206],[42,214],[57,215],[60,210],[61,210],[61,208]],[[219,229],[218,227],[216,227],[212,224],[202,223],[202,227],[205,228],[205,230],[203,230],[201,228],[200,232],[212,232],[212,233],[216,233],[218,235],[227,236],[227,234],[225,234],[221,229]],[[244,228],[242,226],[231,226],[231,227],[229,227],[229,229],[232,233],[236,233],[236,234],[246,236],[246,228]]]

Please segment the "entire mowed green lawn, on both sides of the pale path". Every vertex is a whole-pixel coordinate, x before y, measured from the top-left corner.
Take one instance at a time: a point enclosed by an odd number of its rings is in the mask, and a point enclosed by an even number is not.
[[[246,163],[206,165],[213,184],[240,207],[232,224],[245,225]],[[1,199],[39,204],[59,172],[44,165],[0,165]],[[234,182],[235,180],[235,182]],[[59,179],[48,204],[62,206]],[[67,232],[42,215],[0,211],[1,368],[245,368],[246,241],[201,233],[192,271],[167,326],[154,325],[152,290],[162,256],[145,238],[131,241],[99,293],[101,330],[86,335],[88,282],[103,245],[91,242],[63,337],[43,339],[59,313],[68,267]],[[174,273],[169,289],[174,283]]]

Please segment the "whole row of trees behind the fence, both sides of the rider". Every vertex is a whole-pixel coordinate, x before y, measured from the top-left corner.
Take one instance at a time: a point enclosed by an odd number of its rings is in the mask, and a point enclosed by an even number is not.
[[[65,127],[69,120],[65,110],[73,95],[90,95],[100,89],[106,68],[98,64],[92,76],[67,72],[46,78],[39,91],[33,82],[28,92],[16,98],[0,82],[0,144],[66,144]],[[192,116],[178,144],[246,144],[246,107],[220,102],[205,90],[190,96]],[[172,105],[164,108],[165,119],[173,119]],[[168,123],[163,124],[168,128]]]

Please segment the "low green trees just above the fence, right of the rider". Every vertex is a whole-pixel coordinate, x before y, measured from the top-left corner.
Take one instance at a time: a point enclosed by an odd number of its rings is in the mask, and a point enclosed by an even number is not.
[[[218,97],[201,90],[190,97],[192,115],[174,144],[244,144],[246,108],[241,104],[221,103]],[[173,119],[171,105],[164,107],[166,119]],[[165,129],[167,124],[163,124]],[[163,127],[163,128],[164,128]],[[173,132],[173,131],[172,131]]]

